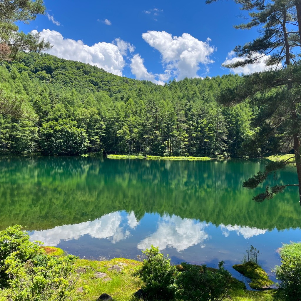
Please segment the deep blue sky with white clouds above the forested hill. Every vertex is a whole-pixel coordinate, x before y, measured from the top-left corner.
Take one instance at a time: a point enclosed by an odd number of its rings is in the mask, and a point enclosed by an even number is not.
[[[221,66],[236,60],[231,50],[258,36],[237,30],[243,20],[232,1],[65,1],[45,0],[46,15],[24,32],[36,30],[58,57],[95,64],[106,71],[163,84],[169,79],[250,73],[263,62],[237,70]]]

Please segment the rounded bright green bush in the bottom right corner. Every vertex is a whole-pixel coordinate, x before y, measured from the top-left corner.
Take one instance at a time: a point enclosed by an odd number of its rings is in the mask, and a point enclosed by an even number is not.
[[[301,300],[301,243],[284,244],[279,254],[281,265],[275,268],[276,279],[289,300]]]

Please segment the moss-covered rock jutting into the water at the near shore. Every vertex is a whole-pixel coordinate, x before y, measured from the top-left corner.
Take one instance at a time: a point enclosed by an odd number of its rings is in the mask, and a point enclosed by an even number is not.
[[[254,262],[233,265],[234,270],[251,279],[250,287],[254,290],[266,290],[274,282],[268,278],[268,274]]]

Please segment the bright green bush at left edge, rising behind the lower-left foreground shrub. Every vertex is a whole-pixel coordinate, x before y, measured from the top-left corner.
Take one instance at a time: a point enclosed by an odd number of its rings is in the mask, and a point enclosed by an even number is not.
[[[42,253],[37,244],[29,241],[29,235],[22,228],[20,225],[14,225],[0,232],[0,286],[5,286],[8,280],[5,260],[12,253],[20,263]]]

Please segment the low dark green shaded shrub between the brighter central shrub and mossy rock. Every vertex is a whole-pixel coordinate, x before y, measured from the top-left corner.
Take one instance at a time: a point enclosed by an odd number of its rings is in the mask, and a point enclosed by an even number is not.
[[[219,262],[219,269],[206,265],[198,266],[182,262],[183,271],[179,273],[176,284],[179,298],[195,301],[222,300],[227,296],[231,274]]]

